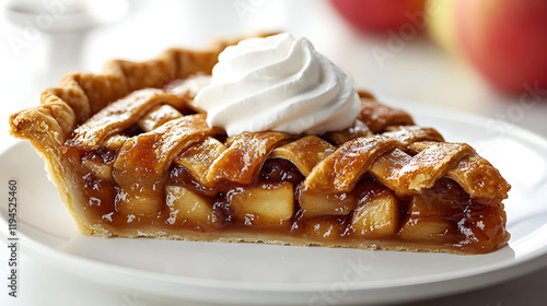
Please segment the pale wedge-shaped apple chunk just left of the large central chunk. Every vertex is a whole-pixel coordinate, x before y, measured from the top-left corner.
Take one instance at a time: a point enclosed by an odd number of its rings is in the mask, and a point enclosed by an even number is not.
[[[167,222],[210,223],[214,220],[211,204],[200,195],[179,186],[165,189],[170,219]]]

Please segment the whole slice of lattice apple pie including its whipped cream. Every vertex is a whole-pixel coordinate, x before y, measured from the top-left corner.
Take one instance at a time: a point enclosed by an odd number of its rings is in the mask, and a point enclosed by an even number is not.
[[[364,249],[507,245],[510,185],[288,34],[72,73],[10,117],[80,232]]]

